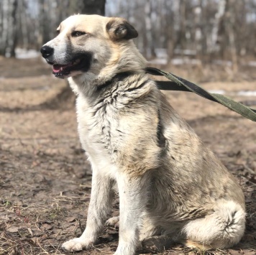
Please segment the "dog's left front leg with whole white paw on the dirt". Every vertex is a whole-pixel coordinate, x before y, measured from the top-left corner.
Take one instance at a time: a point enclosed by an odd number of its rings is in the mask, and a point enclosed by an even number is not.
[[[67,251],[80,251],[92,246],[103,227],[111,205],[111,180],[93,171],[91,200],[88,207],[86,229],[79,238],[71,239],[63,244]]]

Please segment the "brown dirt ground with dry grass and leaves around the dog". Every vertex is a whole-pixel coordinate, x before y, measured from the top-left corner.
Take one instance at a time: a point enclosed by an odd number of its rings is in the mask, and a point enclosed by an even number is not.
[[[60,245],[85,228],[91,191],[73,99],[57,96],[65,81],[52,77],[40,59],[1,58],[0,70],[0,254],[73,254]],[[201,85],[224,89],[256,108],[256,96],[236,94],[256,91],[253,70],[237,76],[219,72],[173,68],[177,75],[210,81]],[[241,243],[228,250],[204,252],[177,244],[167,251],[137,254],[256,254],[256,124],[192,93],[166,94],[242,185],[247,230]],[[117,199],[113,214],[118,214]],[[76,254],[113,254],[117,241],[118,229],[106,226],[93,249]]]

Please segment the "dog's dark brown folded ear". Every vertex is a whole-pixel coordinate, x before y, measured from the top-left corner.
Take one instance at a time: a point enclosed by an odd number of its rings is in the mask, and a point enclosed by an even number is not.
[[[113,18],[106,24],[106,31],[113,41],[136,38],[138,33],[125,19]]]

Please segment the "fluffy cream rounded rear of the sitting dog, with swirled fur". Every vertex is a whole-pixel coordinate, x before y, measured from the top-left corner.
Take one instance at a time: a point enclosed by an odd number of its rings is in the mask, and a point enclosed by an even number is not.
[[[225,249],[237,244],[244,234],[244,209],[233,201],[221,201],[214,213],[189,221],[182,232],[186,246]]]

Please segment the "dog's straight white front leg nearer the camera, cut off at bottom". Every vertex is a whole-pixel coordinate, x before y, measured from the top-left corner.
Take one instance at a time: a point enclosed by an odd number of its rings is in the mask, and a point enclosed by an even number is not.
[[[119,174],[119,245],[114,255],[133,255],[139,244],[140,225],[147,203],[145,177]]]

